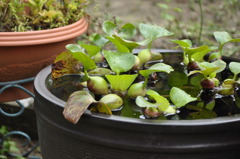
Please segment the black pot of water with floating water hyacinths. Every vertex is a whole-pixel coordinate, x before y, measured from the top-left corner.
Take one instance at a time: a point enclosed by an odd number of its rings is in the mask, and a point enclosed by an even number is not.
[[[240,39],[215,32],[219,47],[173,40],[182,51],[156,50],[156,38],[172,35],[165,28],[107,21],[103,30],[67,45],[35,80],[44,158],[239,155],[240,63],[221,52]],[[143,40],[132,41],[138,30]]]

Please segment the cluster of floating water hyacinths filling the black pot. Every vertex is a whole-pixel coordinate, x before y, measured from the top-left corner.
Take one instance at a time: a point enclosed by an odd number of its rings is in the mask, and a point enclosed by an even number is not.
[[[193,47],[190,40],[172,40],[183,50],[182,62],[175,68],[151,48],[155,39],[173,35],[165,28],[143,23],[137,28],[130,23],[118,27],[105,21],[102,29],[104,35],[93,34],[89,44],[79,41],[67,45],[67,51],[52,66],[53,83],[68,74],[81,76],[63,112],[70,122],[77,123],[87,109],[156,120],[214,118],[219,116],[214,110],[216,99],[224,97],[236,101],[230,114],[240,113],[240,63],[228,65],[221,56],[225,44],[240,39],[232,39],[227,32],[215,32],[219,47]],[[138,31],[143,40],[131,40]],[[107,50],[108,45],[115,49]],[[135,53],[139,46],[146,49]],[[227,65],[232,73],[225,78],[221,72]],[[163,85],[167,87],[156,88],[165,78],[167,83]]]

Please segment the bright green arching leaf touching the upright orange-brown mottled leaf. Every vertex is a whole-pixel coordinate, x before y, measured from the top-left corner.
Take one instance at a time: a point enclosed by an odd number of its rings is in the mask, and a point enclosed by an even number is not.
[[[97,67],[94,60],[85,53],[72,52],[72,56],[83,64],[84,70],[90,70]]]

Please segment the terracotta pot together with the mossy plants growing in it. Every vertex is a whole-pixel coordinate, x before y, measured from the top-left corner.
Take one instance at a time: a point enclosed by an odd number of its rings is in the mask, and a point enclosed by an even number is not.
[[[88,3],[85,0],[1,1],[0,82],[34,77],[52,63],[66,44],[73,43],[87,30]],[[5,91],[0,101],[11,101],[14,96],[21,99],[22,95],[21,91]]]

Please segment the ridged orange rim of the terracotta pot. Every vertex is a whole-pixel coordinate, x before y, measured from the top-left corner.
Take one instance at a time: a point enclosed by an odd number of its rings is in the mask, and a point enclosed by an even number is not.
[[[81,18],[77,22],[59,28],[26,31],[0,32],[0,46],[39,45],[75,38],[88,28],[88,20]]]

